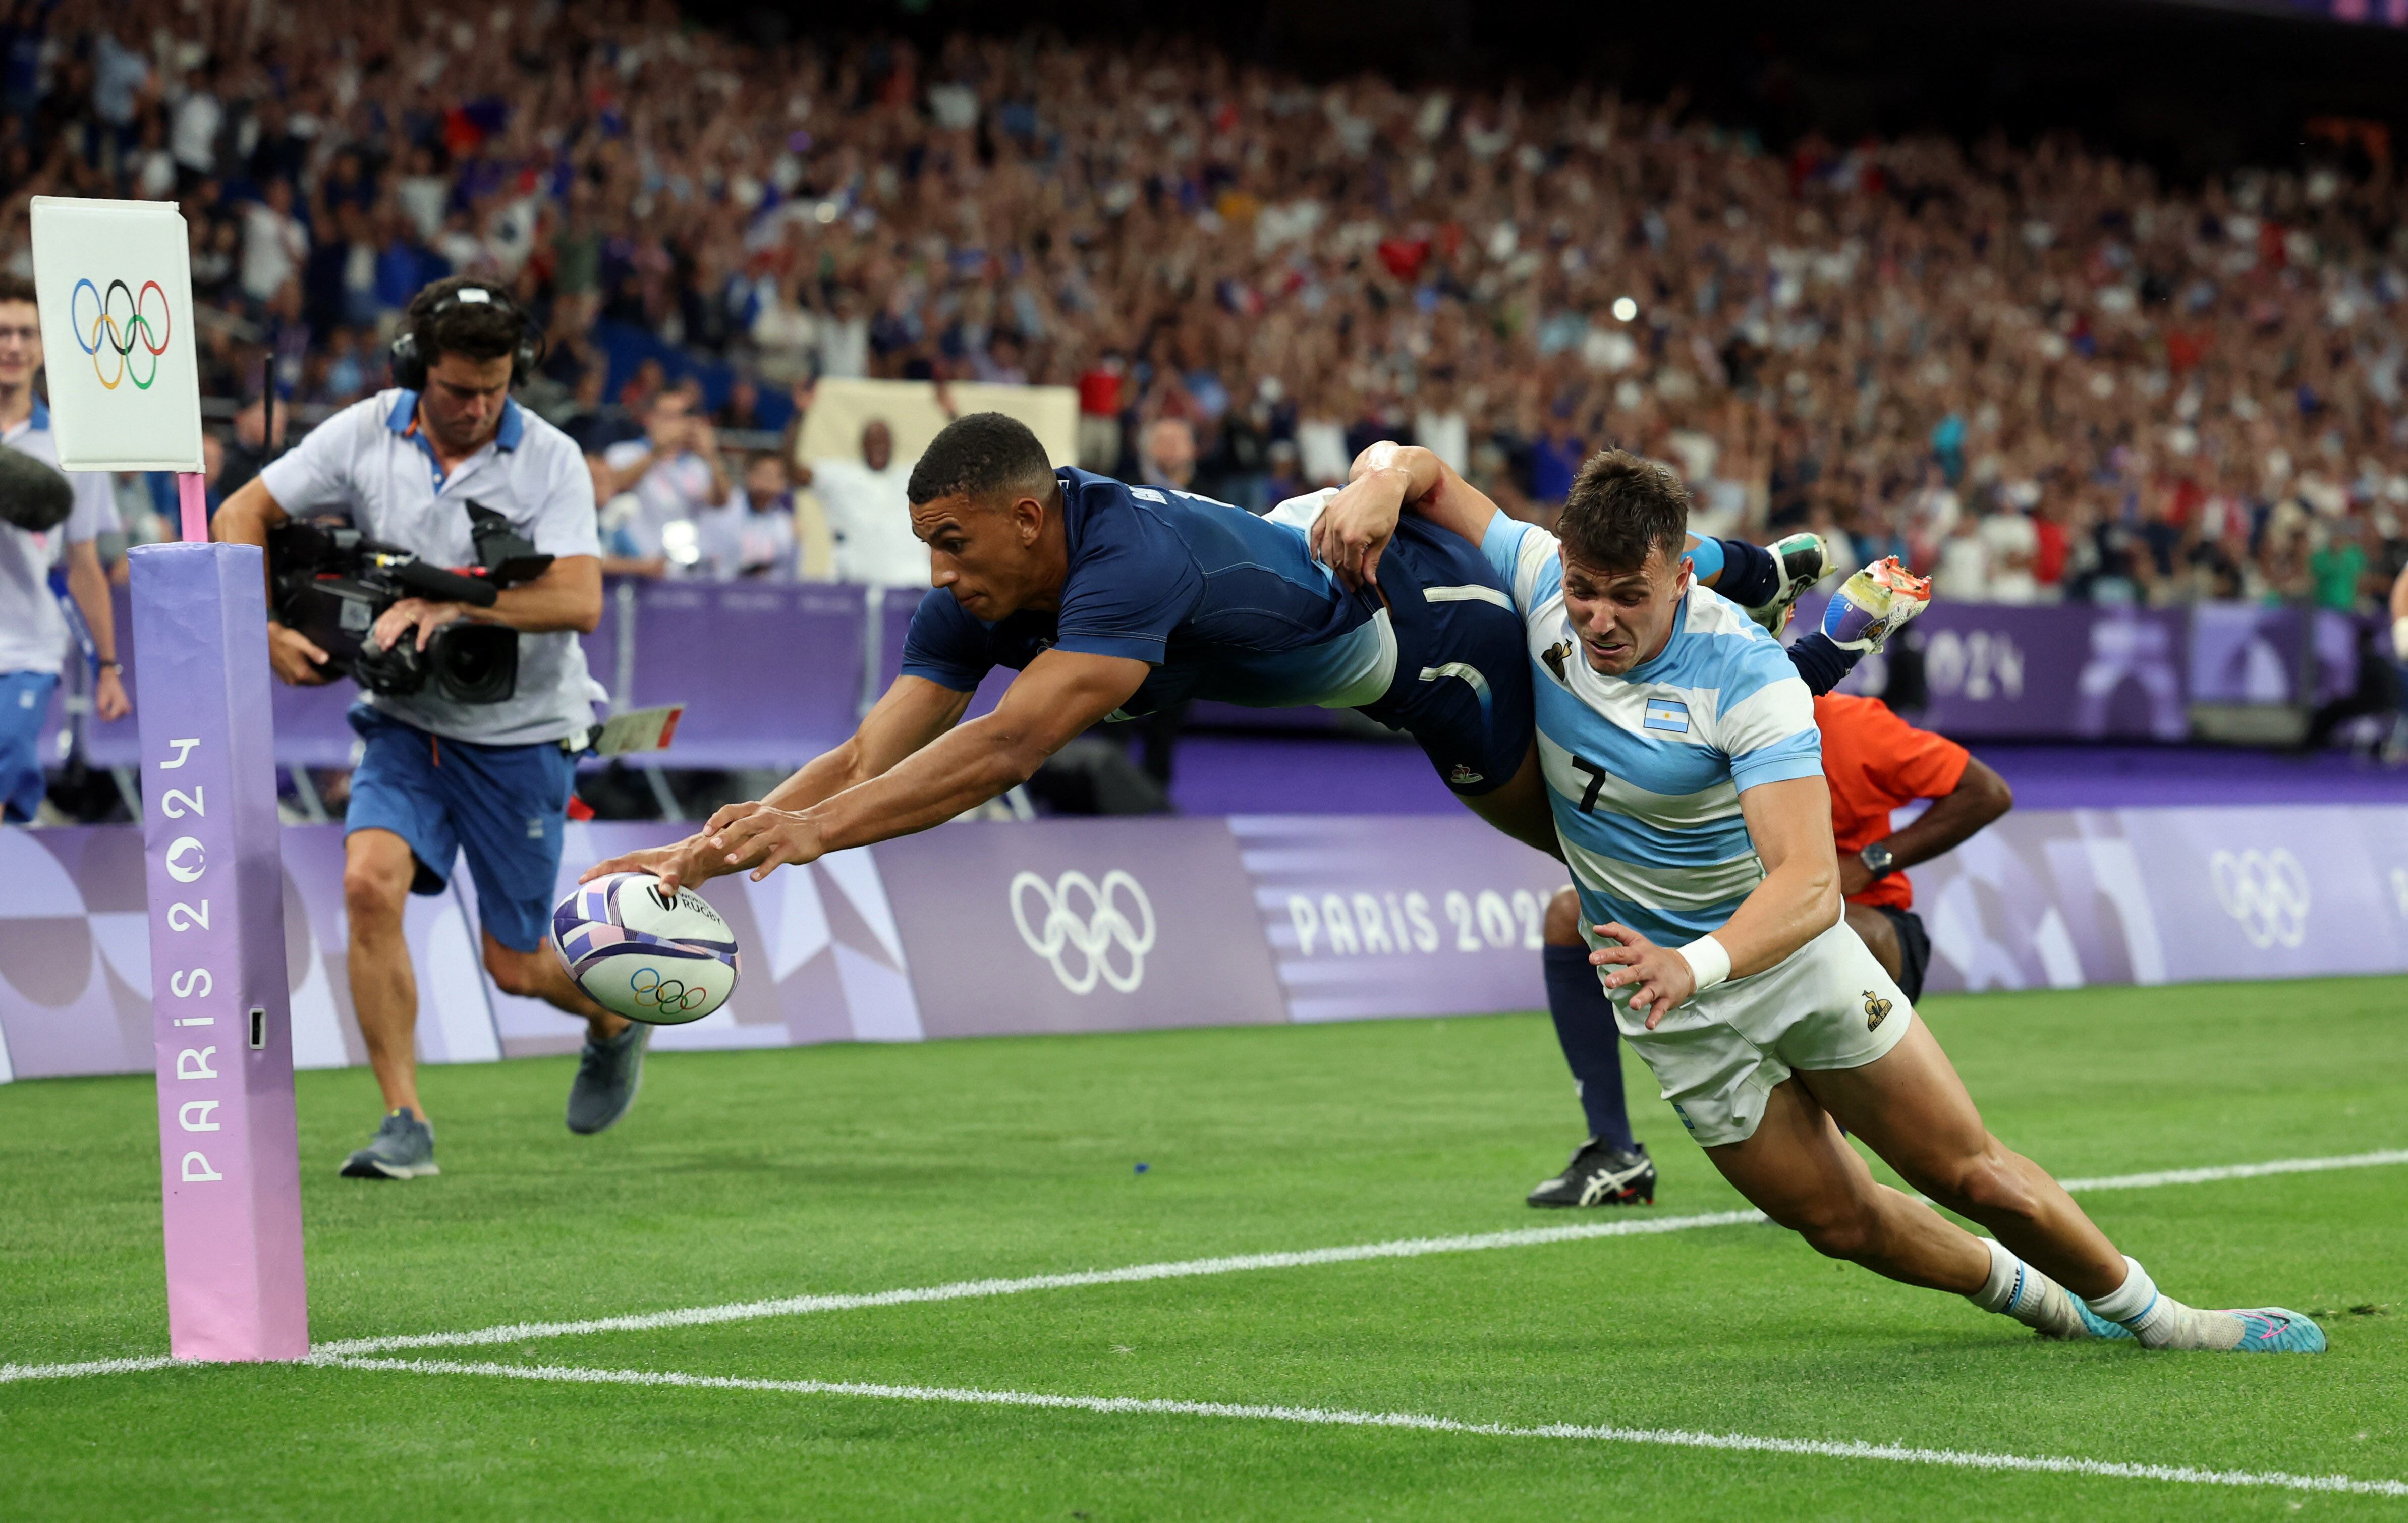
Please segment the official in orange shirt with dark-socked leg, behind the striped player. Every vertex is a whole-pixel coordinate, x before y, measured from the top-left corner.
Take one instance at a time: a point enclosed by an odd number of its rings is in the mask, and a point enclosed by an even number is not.
[[[1914,729],[1878,698],[1825,693],[1813,700],[1813,719],[1823,731],[1823,780],[1830,784],[1830,835],[1840,847],[1847,924],[1907,1001],[1919,1001],[1931,936],[1914,914],[1914,885],[1902,869],[1955,849],[2013,808],[2015,794],[1963,746]],[[1893,835],[1890,811],[1914,799],[1931,799],[1931,808]],[[1577,1015],[1587,1008],[1582,1001],[1597,994],[1597,974],[1570,888],[1546,907],[1546,977],[1556,1042],[1572,1068],[1589,1140],[1560,1174],[1541,1179],[1524,1198],[1531,1205],[1654,1203],[1654,1165],[1647,1148],[1630,1140],[1623,1104],[1621,1032],[1611,1011],[1601,1020]]]

